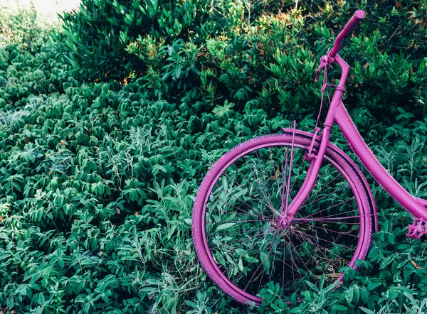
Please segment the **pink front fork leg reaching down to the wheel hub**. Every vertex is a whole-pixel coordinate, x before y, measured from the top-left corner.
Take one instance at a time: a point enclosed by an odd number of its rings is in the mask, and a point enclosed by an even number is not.
[[[301,205],[305,200],[307,199],[307,196],[310,194],[310,191],[315,186],[317,175],[319,174],[320,167],[322,166],[323,157],[325,156],[327,144],[330,139],[330,133],[331,133],[331,126],[325,125],[325,128],[322,131],[321,137],[322,140],[320,141],[320,147],[317,151],[317,155],[310,156],[311,157],[311,163],[307,170],[307,175],[305,176],[304,182],[302,183],[302,186],[300,190],[298,191],[297,195],[293,198],[290,205],[286,207],[282,207],[280,210],[280,217],[279,217],[279,225],[282,227],[288,227],[288,224],[292,221],[293,217],[297,213],[297,211],[300,209]],[[313,139],[315,136],[313,136]],[[293,147],[292,147],[293,150]],[[289,186],[288,186],[289,189]]]

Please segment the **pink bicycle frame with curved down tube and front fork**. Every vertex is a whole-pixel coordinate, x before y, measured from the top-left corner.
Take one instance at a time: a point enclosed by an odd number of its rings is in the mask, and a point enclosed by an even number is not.
[[[327,58],[323,56],[322,58]],[[321,60],[322,60],[321,58]],[[326,59],[325,59],[326,60]],[[352,151],[356,154],[357,158],[362,162],[365,168],[371,173],[372,177],[386,190],[391,197],[393,197],[399,204],[404,207],[408,212],[416,218],[427,220],[427,201],[417,197],[413,197],[408,193],[390,174],[381,166],[381,163],[376,159],[372,151],[359,134],[354,122],[349,116],[347,109],[342,103],[342,95],[344,94],[344,86],[349,73],[349,65],[339,55],[335,56],[335,62],[341,67],[342,75],[339,80],[339,85],[335,87],[332,97],[330,108],[327,112],[327,117],[322,131],[322,140],[320,142],[317,155],[312,159],[310,167],[307,170],[307,177],[302,183],[302,187],[297,195],[294,197],[288,210],[281,213],[281,222],[283,225],[288,225],[292,220],[297,210],[307,198],[308,194],[315,185],[315,180],[319,174],[320,166],[322,165],[323,158],[327,144],[330,140],[330,131],[334,124],[339,126],[339,129],[344,134],[347,143]]]

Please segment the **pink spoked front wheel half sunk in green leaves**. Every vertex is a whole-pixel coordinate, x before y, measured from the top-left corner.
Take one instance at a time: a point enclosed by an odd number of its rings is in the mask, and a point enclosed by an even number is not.
[[[281,210],[295,197],[310,162],[310,139],[275,134],[236,146],[212,166],[196,195],[193,239],[209,277],[236,301],[260,305],[273,282],[286,302],[307,281],[337,283],[371,242],[367,191],[357,171],[328,148],[314,188],[288,227]]]

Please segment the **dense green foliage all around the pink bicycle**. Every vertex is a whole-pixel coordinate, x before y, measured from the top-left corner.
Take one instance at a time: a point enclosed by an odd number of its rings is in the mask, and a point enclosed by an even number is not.
[[[368,18],[342,52],[345,103],[381,163],[427,197],[425,1],[84,0],[42,40],[4,36],[0,313],[426,312],[426,241],[405,237],[411,217],[374,182],[367,260],[290,309],[274,285],[262,307],[231,301],[191,241],[219,156],[294,119],[313,129],[317,60],[356,8]]]

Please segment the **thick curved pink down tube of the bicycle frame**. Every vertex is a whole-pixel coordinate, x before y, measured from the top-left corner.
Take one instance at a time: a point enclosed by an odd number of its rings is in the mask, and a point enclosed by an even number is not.
[[[350,118],[344,104],[339,102],[337,109],[334,112],[335,122],[339,129],[344,134],[345,139],[349,143],[357,157],[362,161],[362,164],[367,168],[369,173],[387,191],[400,205],[402,205],[411,215],[417,218],[427,220],[427,209],[420,202],[416,201],[402,186],[394,180],[394,178],[381,166],[381,163],[375,158],[367,144],[360,136],[356,126]]]

